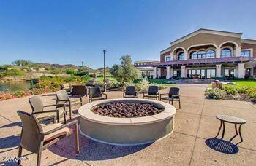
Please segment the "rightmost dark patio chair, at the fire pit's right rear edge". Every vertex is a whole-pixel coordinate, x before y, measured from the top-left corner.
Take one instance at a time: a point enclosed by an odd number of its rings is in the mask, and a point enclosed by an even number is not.
[[[168,97],[163,97],[162,95],[168,95]],[[178,107],[181,108],[181,98],[179,95],[179,88],[178,87],[170,87],[170,91],[168,93],[162,93],[160,94],[160,100],[168,100],[169,103],[170,101],[172,102],[173,105],[173,101],[178,101]]]

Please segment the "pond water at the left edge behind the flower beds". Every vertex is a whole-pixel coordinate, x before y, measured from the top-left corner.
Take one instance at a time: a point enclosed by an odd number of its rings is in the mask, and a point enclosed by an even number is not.
[[[29,90],[30,87],[30,82],[5,82],[0,83],[0,92]]]

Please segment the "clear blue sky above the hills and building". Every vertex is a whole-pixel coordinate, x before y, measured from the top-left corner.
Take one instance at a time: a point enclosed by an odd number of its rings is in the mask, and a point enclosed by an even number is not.
[[[170,42],[198,28],[256,38],[256,2],[246,1],[12,1],[0,0],[0,64],[84,61],[91,68],[159,59]]]

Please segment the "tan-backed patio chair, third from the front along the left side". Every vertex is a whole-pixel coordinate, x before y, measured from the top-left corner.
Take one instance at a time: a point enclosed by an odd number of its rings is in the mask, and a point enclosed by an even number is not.
[[[72,106],[83,105],[82,96],[69,96],[66,90],[59,90],[56,92],[56,104],[64,104],[66,108],[69,108],[69,119],[72,119]],[[72,101],[71,98],[80,98],[78,101]]]

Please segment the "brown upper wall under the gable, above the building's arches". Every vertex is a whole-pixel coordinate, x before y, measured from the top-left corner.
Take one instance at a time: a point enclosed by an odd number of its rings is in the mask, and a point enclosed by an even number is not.
[[[171,50],[175,49],[176,47],[184,47],[184,49],[188,49],[192,45],[197,44],[215,44],[219,47],[220,44],[227,41],[233,41],[238,44],[238,46],[241,45],[241,39],[236,37],[230,37],[230,36],[220,36],[215,34],[208,34],[208,33],[200,33],[196,36],[192,36],[191,38],[180,42],[178,44],[175,44],[171,46]]]

